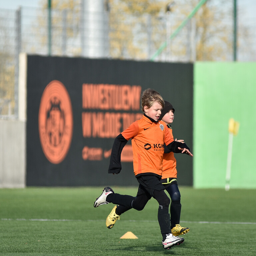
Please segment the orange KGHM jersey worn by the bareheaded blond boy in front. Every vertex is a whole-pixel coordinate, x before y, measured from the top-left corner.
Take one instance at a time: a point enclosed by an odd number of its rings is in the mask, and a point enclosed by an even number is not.
[[[132,139],[134,174],[155,173],[162,175],[164,143],[173,141],[166,124],[162,121],[152,122],[143,115],[122,133],[126,139]]]

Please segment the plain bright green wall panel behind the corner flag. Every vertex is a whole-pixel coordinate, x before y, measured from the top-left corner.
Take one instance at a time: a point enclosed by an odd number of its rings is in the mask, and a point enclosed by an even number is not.
[[[224,188],[228,122],[233,137],[230,188],[256,188],[256,63],[197,62],[194,66],[195,188]]]

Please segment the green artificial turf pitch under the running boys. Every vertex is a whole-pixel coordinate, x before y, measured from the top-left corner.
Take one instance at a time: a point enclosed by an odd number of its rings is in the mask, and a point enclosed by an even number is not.
[[[0,255],[256,255],[256,190],[180,187],[180,224],[190,232],[183,235],[183,244],[164,250],[156,200],[143,211],[124,213],[108,229],[105,219],[114,205],[93,207],[102,189],[0,189]],[[137,192],[133,187],[113,189]],[[128,231],[138,239],[120,239]]]

